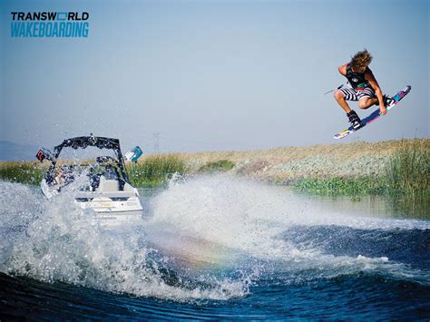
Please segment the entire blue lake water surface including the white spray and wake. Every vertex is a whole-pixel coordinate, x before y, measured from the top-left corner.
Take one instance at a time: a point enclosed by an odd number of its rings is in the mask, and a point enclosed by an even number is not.
[[[142,190],[142,225],[106,230],[72,193],[0,182],[0,319],[430,318],[428,205],[219,175]]]

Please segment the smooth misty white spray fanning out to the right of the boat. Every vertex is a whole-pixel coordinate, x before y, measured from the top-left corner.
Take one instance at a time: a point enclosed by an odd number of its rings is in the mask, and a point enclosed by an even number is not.
[[[157,231],[155,239],[161,247],[174,248],[181,256],[198,260],[205,249],[209,264],[220,259],[218,253],[210,258],[207,244],[239,249],[250,257],[278,261],[279,267],[294,276],[307,272],[315,278],[333,277],[361,270],[377,270],[402,275],[410,268],[390,262],[386,257],[368,259],[364,256],[347,257],[326,254],[320,245],[303,247],[282,239],[282,233],[295,226],[342,226],[354,229],[430,229],[423,220],[392,220],[352,217],[322,210],[317,203],[255,181],[239,180],[218,175],[200,177],[183,184],[172,185],[151,201],[152,219],[148,229]],[[176,239],[161,238],[165,232]],[[195,240],[184,238],[189,236]],[[150,238],[153,238],[150,236]],[[184,240],[187,240],[184,242]],[[172,245],[174,245],[172,247]],[[191,249],[191,250],[190,250]],[[210,260],[212,259],[212,260]],[[224,258],[224,260],[228,261]],[[236,263],[233,258],[230,262]],[[429,279],[428,272],[412,272],[420,280]]]

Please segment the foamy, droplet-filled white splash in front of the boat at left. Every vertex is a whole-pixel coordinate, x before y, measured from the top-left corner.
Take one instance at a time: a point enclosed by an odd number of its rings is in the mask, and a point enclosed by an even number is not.
[[[24,185],[0,182],[2,239],[0,270],[48,282],[175,300],[227,299],[248,292],[248,278],[210,280],[188,286],[176,278],[170,283],[149,258],[139,229],[105,230],[95,214],[73,203],[73,186],[52,200]],[[15,200],[15,202],[9,202]],[[20,210],[19,216],[15,216]],[[15,229],[24,222],[25,229]],[[142,222],[143,223],[143,222]],[[21,227],[20,226],[20,227]]]

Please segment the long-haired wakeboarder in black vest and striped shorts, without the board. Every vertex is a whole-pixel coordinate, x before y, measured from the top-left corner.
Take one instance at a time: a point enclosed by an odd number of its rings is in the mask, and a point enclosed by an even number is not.
[[[357,130],[363,126],[357,112],[352,110],[347,101],[358,101],[358,107],[366,110],[372,105],[379,105],[381,114],[386,114],[386,105],[392,100],[383,95],[375,75],[368,65],[372,62],[372,55],[363,50],[354,54],[349,63],[338,67],[339,73],[347,77],[350,86],[341,86],[335,91],[335,99],[340,107],[347,113],[347,118],[352,127]]]

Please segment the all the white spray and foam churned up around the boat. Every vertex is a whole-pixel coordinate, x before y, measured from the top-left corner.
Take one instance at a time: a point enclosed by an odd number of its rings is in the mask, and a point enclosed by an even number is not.
[[[49,201],[20,184],[0,182],[0,190],[0,270],[10,274],[175,300],[242,297],[269,268],[297,280],[362,270],[430,279],[385,257],[336,257],[281,238],[295,225],[428,229],[428,222],[334,215],[277,187],[228,176],[171,184],[151,200],[143,229],[126,233],[103,230],[91,212],[83,213],[73,203],[73,186]],[[174,282],[163,263],[179,268]]]

